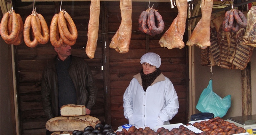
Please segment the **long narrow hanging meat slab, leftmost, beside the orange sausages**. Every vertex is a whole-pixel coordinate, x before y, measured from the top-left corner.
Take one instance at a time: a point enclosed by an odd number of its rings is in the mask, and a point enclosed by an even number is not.
[[[87,44],[85,52],[92,59],[97,48],[100,19],[100,0],[91,0],[90,20],[88,24]]]

